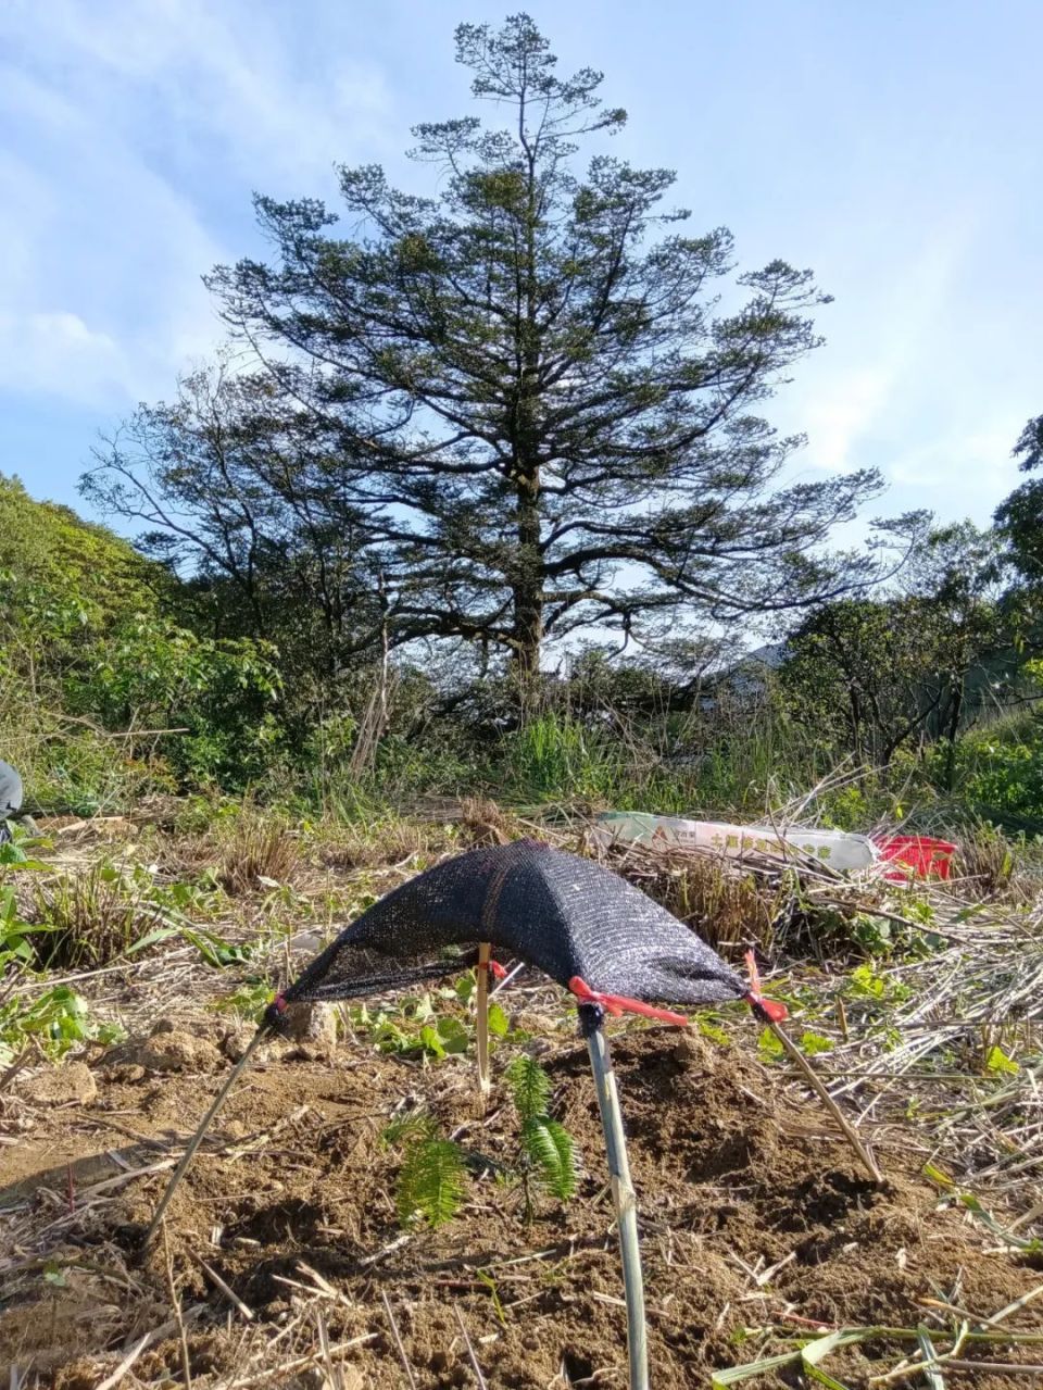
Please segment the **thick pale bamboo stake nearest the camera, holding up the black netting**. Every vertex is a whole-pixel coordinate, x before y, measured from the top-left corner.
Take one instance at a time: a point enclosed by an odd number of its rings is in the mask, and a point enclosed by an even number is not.
[[[649,1347],[644,1320],[644,1280],[642,1276],[642,1251],[637,1240],[637,1198],[631,1182],[631,1163],[626,1156],[626,1136],[624,1134],[619,1093],[615,1087],[612,1056],[608,1038],[601,1023],[604,1015],[597,1005],[579,1006],[579,1027],[586,1038],[590,1054],[590,1069],[597,1087],[597,1106],[601,1112],[606,1148],[608,1150],[608,1176],[612,1183],[612,1202],[619,1226],[619,1254],[624,1266],[624,1293],[626,1295],[626,1352],[631,1365],[631,1390],[649,1390]]]

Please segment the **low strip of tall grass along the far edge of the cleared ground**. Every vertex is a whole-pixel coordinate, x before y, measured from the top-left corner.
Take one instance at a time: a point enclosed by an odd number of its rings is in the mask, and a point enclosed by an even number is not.
[[[578,684],[549,689],[521,723],[510,723],[517,706],[490,702],[478,728],[457,714],[432,720],[421,734],[393,731],[372,767],[356,776],[331,739],[297,756],[275,749],[251,796],[290,820],[364,827],[425,798],[485,795],[517,806],[582,802],[747,821],[797,806],[803,820],[849,830],[894,819],[925,833],[976,820],[1043,830],[1043,721],[1032,713],[964,733],[951,760],[935,744],[901,749],[887,769],[857,769],[771,689],[718,691],[712,705],[683,712],[647,698],[614,702]],[[11,687],[10,696],[0,709],[0,756],[22,773],[28,810],[119,813],[151,792],[185,790],[157,741],[106,734],[33,702],[28,687]],[[833,776],[837,766],[843,780]],[[825,790],[808,802],[815,787]],[[215,785],[200,790],[219,798]]]

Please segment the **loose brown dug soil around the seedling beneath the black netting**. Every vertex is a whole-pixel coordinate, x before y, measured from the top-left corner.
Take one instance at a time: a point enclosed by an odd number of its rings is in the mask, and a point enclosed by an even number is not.
[[[657,1390],[707,1383],[711,1369],[785,1351],[815,1329],[915,1329],[929,1318],[925,1298],[987,1318],[1039,1284],[1037,1257],[990,1250],[999,1243],[981,1225],[939,1211],[900,1151],[881,1151],[892,1186],[875,1188],[819,1113],[790,1102],[742,1047],[642,1027],[612,1047]],[[300,1377],[325,1339],[346,1384],[362,1390],[401,1382],[400,1339],[419,1390],[435,1390],[475,1383],[460,1314],[490,1387],[625,1386],[586,1051],[568,1044],[542,1061],[583,1158],[569,1205],[542,1204],[525,1225],[519,1194],[493,1176],[517,1140],[510,1108],[497,1088],[482,1111],[469,1061],[421,1069],[344,1047],[332,1065],[272,1054],[229,1101],[175,1195],[165,1241],[144,1259],[140,1232],[168,1177],[171,1130],[194,1125],[219,1076],[96,1068],[96,1101],[40,1111],[24,1141],[0,1151],[6,1180],[21,1179],[0,1193],[12,1257],[0,1264],[0,1365],[86,1390],[143,1341],[128,1386],[182,1383],[187,1355],[196,1386],[247,1390],[308,1383]],[[468,1205],[437,1232],[404,1234],[396,1222],[400,1155],[381,1136],[403,1097],[476,1155]],[[106,1156],[112,1150],[118,1158]],[[1028,1304],[1004,1329],[1039,1333],[1043,1315]],[[871,1365],[911,1350],[879,1337],[828,1369],[861,1384]],[[994,1354],[975,1344],[962,1355]],[[758,1383],[800,1383],[787,1375]],[[1010,1380],[982,1371],[972,1383]]]

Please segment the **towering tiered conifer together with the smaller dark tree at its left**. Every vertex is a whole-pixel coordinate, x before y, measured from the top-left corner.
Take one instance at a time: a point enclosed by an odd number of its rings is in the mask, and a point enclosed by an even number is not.
[[[139,413],[92,496],[326,671],[381,632],[526,684],[581,631],[654,644],[868,582],[824,543],[879,480],[786,484],[799,441],[757,414],[818,342],[811,274],[732,278],[729,234],[687,234],[674,175],[610,156],[625,113],[526,15],[461,25],[457,60],[506,125],[418,126],[433,196],[342,170],[346,232],[258,197],[272,260],[210,284],[264,371]]]

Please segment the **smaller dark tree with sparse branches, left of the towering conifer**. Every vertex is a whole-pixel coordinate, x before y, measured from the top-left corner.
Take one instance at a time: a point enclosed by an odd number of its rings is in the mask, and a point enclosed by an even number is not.
[[[146,528],[139,549],[183,578],[194,624],[278,644],[300,703],[379,642],[383,617],[339,443],[267,373],[222,360],[174,403],[142,406],[83,478],[86,496]]]

